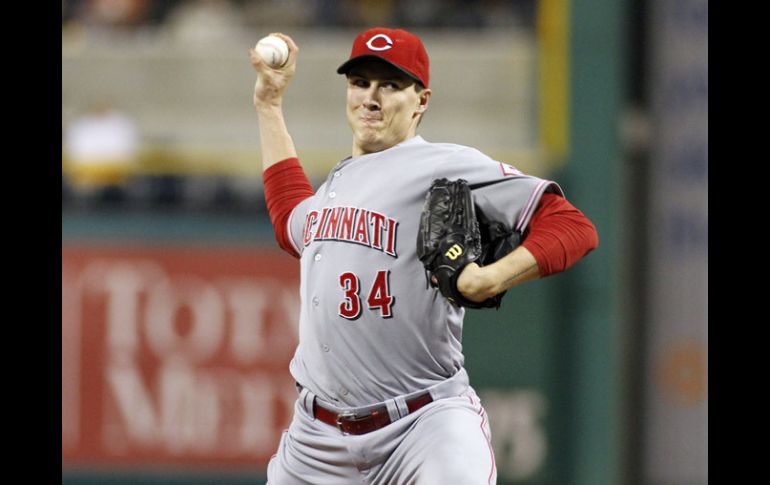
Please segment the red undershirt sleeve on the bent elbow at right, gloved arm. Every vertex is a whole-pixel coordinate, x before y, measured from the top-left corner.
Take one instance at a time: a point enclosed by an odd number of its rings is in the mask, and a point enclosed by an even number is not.
[[[529,222],[522,245],[545,277],[562,272],[599,246],[594,224],[567,199],[546,193]]]

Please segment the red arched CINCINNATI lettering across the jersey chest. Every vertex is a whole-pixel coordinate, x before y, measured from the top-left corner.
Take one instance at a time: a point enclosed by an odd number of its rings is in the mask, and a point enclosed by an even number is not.
[[[305,218],[302,244],[313,241],[343,241],[367,246],[385,254],[396,254],[398,222],[379,212],[360,207],[324,207]]]

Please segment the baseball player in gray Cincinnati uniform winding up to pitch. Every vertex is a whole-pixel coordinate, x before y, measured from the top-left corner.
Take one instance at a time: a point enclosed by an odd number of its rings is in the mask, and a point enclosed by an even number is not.
[[[289,59],[271,68],[250,51],[253,102],[268,211],[280,247],[300,260],[302,307],[298,398],[268,482],[495,483],[489,421],[463,367],[465,307],[435,275],[427,284],[417,255],[426,192],[437,179],[467,181],[478,212],[523,237],[493,264],[457,269],[451,284],[466,302],[567,269],[598,245],[596,230],[556,183],[417,135],[429,58],[399,29],[361,33],[337,69],[352,152],[313,191],[281,109],[299,49],[274,35]]]

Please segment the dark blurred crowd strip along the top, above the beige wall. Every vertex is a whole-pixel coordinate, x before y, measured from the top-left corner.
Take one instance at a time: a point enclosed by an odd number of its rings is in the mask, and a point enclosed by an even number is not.
[[[174,29],[237,19],[249,27],[531,25],[534,0],[62,0],[62,28]]]

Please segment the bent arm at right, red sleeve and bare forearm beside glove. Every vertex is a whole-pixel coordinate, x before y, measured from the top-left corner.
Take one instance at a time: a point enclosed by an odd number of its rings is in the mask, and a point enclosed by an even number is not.
[[[524,242],[485,267],[471,263],[460,273],[457,289],[469,300],[484,301],[526,281],[573,266],[599,245],[593,223],[556,194],[543,194]]]

